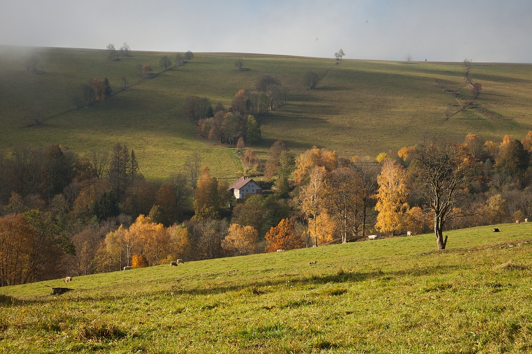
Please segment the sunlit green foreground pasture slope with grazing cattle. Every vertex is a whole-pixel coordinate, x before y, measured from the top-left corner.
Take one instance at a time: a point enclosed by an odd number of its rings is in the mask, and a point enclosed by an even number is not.
[[[495,226],[0,288],[0,351],[529,352],[532,224]]]

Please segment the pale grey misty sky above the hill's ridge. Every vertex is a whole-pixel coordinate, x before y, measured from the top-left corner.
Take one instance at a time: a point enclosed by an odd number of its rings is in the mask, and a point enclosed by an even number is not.
[[[2,0],[0,9],[4,45],[532,63],[532,0]]]

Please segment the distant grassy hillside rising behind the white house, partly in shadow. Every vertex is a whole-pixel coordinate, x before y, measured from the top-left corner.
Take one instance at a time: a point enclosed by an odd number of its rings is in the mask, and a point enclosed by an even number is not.
[[[29,52],[43,61],[43,74],[26,72],[23,58]],[[192,151],[202,153],[216,175],[231,176],[242,168],[234,150],[194,138],[195,125],[182,112],[184,99],[206,96],[229,106],[240,88],[252,89],[265,74],[281,79],[288,104],[261,120],[260,153],[282,139],[298,152],[318,145],[340,155],[375,157],[423,137],[461,140],[472,132],[488,140],[501,140],[505,133],[521,139],[532,129],[528,64],[473,62],[471,79],[484,90],[475,105],[446,120],[447,105],[469,95],[468,87],[458,98],[445,92],[464,86],[461,63],[344,59],[335,65],[328,58],[244,55],[250,70],[239,72],[237,54],[196,54],[187,65],[163,71],[163,54],[136,52],[115,62],[103,50],[0,46],[0,149],[59,143],[85,152],[121,141],[136,150],[148,178],[164,178]],[[140,78],[139,63],[151,63],[157,76]],[[309,70],[321,77],[312,90],[304,84]],[[128,91],[120,90],[122,76],[130,80]],[[76,111],[72,98],[81,82],[94,77],[109,78],[117,93]],[[45,107],[41,127],[29,126],[28,111],[36,102]]]

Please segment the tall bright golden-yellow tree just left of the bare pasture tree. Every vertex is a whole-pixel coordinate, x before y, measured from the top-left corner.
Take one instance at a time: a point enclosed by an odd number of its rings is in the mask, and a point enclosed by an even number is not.
[[[406,170],[390,158],[382,162],[382,169],[377,177],[379,189],[376,195],[379,212],[375,228],[380,232],[400,231],[404,225],[404,213],[408,209],[406,200]]]

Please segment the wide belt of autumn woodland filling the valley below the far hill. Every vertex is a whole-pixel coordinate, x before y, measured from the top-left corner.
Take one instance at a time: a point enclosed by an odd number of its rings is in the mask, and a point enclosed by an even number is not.
[[[0,283],[93,274],[169,260],[324,246],[523,220],[532,212],[532,131],[500,144],[419,142],[376,160],[284,142],[261,168],[264,195],[236,203],[199,154],[164,181],[147,181],[117,143],[86,155],[59,145],[0,154]],[[250,153],[251,151],[251,153]],[[256,154],[255,154],[256,155]],[[260,166],[260,167],[257,167]],[[234,205],[230,209],[229,202]]]

